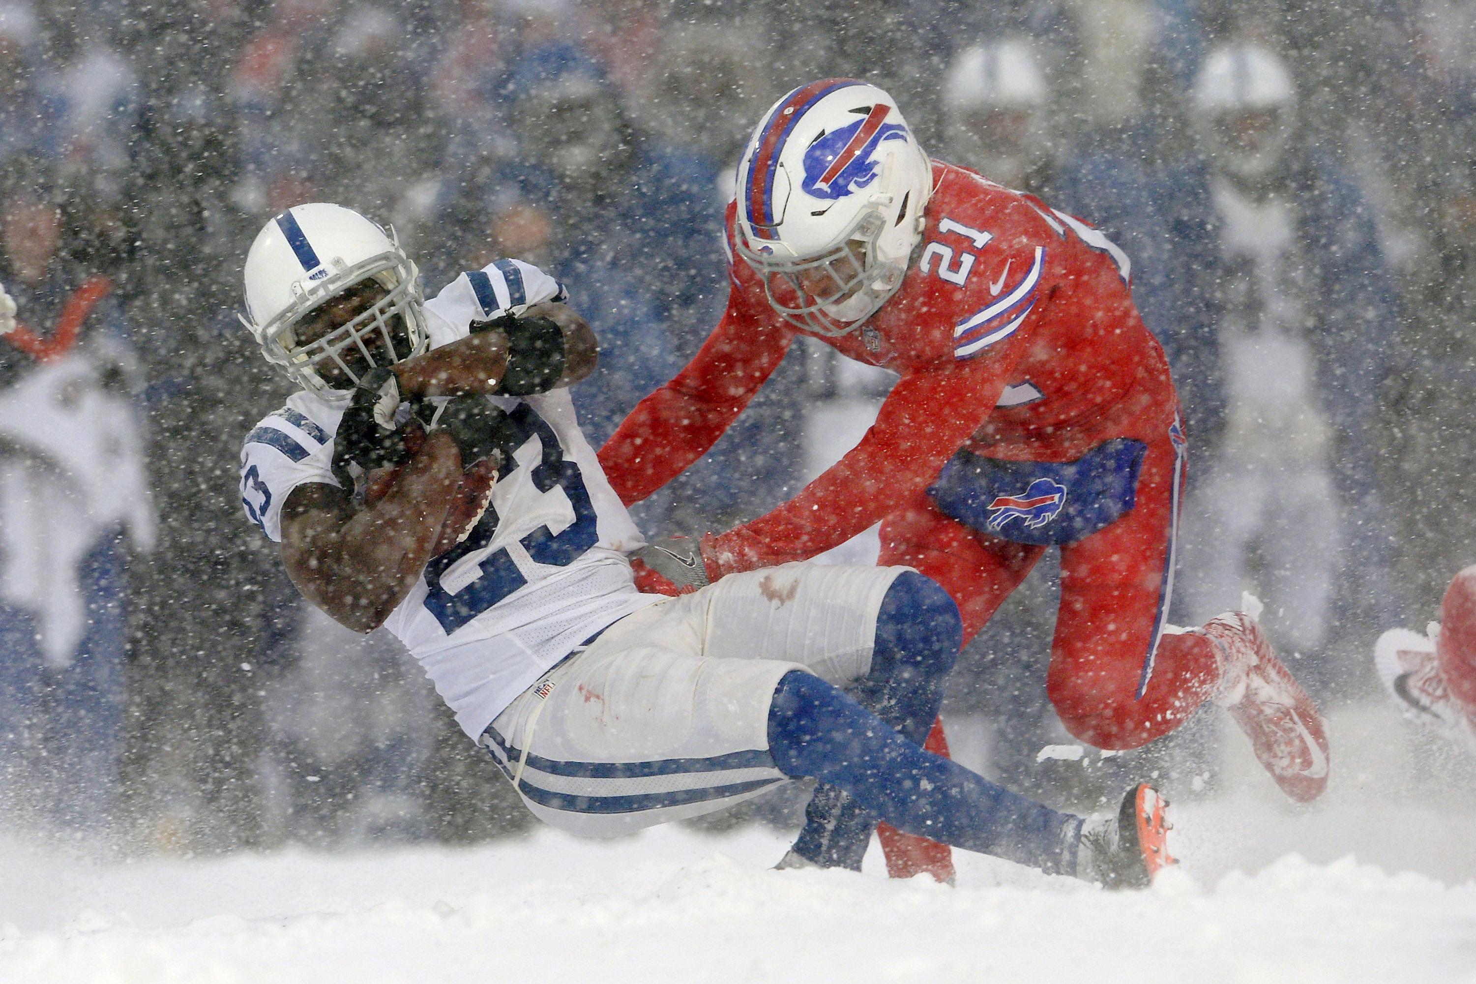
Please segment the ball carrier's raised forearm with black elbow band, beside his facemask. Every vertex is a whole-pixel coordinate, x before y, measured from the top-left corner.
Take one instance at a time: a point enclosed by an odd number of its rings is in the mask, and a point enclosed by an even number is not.
[[[472,326],[466,338],[396,363],[407,397],[499,392],[524,397],[568,387],[599,361],[599,342],[568,305],[545,301],[521,316]]]

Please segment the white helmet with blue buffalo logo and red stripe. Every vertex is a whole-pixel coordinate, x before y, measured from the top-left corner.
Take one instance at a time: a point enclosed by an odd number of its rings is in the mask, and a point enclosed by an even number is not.
[[[738,162],[738,254],[785,320],[847,335],[902,286],[931,193],[892,96],[810,83],[769,108]]]

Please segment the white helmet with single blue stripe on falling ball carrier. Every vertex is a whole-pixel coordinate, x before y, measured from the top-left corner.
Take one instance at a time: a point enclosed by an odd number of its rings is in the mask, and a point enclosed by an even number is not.
[[[245,280],[241,323],[251,329],[266,360],[307,389],[332,388],[317,373],[325,361],[359,382],[342,357],[345,350],[357,350],[376,366],[376,351],[396,363],[430,348],[415,264],[393,232],[342,205],[294,205],[269,221],[246,254]],[[304,316],[366,280],[385,289],[373,307],[322,338],[298,342]]]

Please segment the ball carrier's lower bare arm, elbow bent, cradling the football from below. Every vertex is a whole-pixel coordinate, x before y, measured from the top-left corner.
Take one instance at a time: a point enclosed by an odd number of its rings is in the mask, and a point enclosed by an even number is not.
[[[461,479],[456,441],[435,431],[384,499],[366,509],[356,509],[335,485],[298,485],[282,505],[288,577],[339,624],[373,631],[430,561]]]

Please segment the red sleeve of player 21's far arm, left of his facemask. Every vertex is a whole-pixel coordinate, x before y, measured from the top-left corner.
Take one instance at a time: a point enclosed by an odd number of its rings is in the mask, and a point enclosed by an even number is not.
[[[731,285],[728,310],[701,351],[599,448],[599,465],[627,506],[706,454],[784,361],[794,332],[753,314],[742,294]]]

